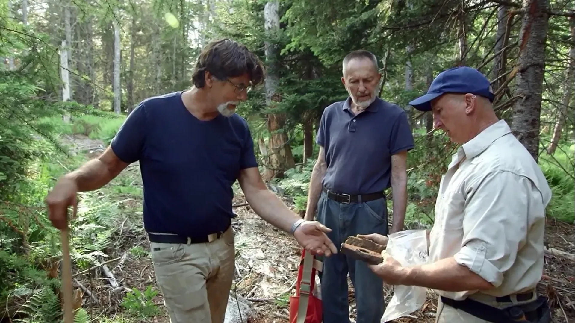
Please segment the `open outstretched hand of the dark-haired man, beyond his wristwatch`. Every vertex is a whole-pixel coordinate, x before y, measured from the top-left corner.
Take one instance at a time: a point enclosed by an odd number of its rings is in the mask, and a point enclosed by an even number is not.
[[[298,228],[293,236],[297,242],[304,247],[312,255],[325,255],[331,256],[333,253],[338,253],[338,249],[333,242],[329,240],[326,233],[331,232],[327,226],[317,221],[304,221]]]

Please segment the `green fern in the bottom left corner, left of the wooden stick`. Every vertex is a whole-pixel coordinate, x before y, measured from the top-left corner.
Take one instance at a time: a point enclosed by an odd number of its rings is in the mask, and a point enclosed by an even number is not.
[[[33,294],[22,306],[22,309],[17,312],[17,314],[24,316],[24,318],[14,320],[14,322],[57,322],[62,316],[62,307],[60,306],[60,299],[51,287],[44,287],[38,293]]]

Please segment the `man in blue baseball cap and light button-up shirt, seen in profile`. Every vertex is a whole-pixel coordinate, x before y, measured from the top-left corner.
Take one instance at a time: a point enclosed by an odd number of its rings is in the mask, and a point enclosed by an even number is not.
[[[433,289],[436,322],[549,322],[535,287],[551,190],[492,102],[489,80],[470,67],[442,72],[410,102],[461,147],[440,183],[427,264],[384,255],[370,268],[386,283]]]

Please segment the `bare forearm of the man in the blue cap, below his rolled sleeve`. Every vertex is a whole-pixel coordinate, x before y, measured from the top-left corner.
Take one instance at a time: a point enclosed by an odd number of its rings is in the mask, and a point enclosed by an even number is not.
[[[458,264],[453,257],[411,268],[404,267],[401,284],[421,286],[443,291],[488,290],[493,285],[469,268]]]

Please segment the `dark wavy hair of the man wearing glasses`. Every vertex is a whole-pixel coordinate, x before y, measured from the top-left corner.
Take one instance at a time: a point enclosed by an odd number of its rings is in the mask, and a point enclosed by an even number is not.
[[[252,86],[263,82],[265,68],[262,61],[248,48],[231,39],[212,41],[200,53],[191,81],[198,89],[205,86],[205,72],[218,80],[244,74],[250,76]]]

